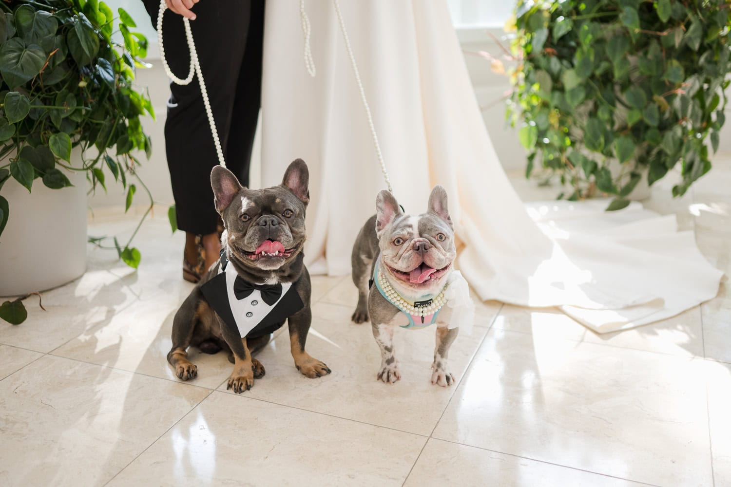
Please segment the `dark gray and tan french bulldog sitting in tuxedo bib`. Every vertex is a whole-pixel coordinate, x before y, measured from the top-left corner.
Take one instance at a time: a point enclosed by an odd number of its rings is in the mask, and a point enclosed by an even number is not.
[[[302,159],[289,164],[281,185],[243,188],[222,166],[211,172],[216,210],[224,222],[221,259],[202,277],[173,321],[167,361],[182,380],[197,377],[189,346],[230,352],[228,388],[248,391],[265,370],[251,351],[289,323],[295,367],[307,377],[330,373],[305,351],[312,321],[310,276],[303,263],[309,173]]]

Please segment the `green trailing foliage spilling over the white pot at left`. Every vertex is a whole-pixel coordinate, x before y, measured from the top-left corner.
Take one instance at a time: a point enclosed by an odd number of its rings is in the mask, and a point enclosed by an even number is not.
[[[148,93],[135,87],[135,69],[144,66],[148,47],[130,30],[135,27],[124,9],[115,14],[103,1],[0,2],[0,235],[12,212],[1,195],[10,177],[28,191],[38,184],[67,187],[70,171],[85,172],[90,191],[106,191],[114,180],[126,188],[126,210],[137,185],[150,196],[133,155],[143,150],[149,158],[151,141],[140,118],[154,117]],[[77,146],[82,157],[72,161]],[[140,225],[151,208],[150,196]],[[140,251],[131,242],[137,229],[124,245],[110,237],[89,241],[115,249],[136,268]],[[107,239],[114,245],[105,245]],[[22,303],[8,303],[0,318],[8,310],[18,321]]]

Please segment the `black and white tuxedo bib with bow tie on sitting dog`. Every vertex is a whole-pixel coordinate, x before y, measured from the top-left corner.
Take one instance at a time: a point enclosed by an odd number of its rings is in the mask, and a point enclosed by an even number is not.
[[[219,273],[200,286],[205,300],[240,337],[260,337],[284,325],[305,305],[292,283],[255,284],[243,280],[221,251]]]

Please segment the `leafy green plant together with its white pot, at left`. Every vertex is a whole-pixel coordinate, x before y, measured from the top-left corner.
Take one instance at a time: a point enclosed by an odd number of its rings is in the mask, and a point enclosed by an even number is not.
[[[103,1],[0,2],[0,296],[83,273],[88,191],[121,184],[129,209],[137,185],[146,190],[134,153],[150,156],[140,117],[154,112],[135,68],[148,42],[130,28]],[[113,242],[137,267],[139,251]],[[24,313],[19,300],[0,306],[12,323]]]

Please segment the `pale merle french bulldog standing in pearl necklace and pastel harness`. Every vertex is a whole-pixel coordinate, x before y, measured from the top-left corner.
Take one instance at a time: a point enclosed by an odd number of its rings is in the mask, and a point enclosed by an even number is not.
[[[397,326],[436,324],[431,382],[439,386],[455,382],[454,375],[447,372],[447,354],[458,329],[448,328],[452,309],[439,308],[455,256],[447,191],[442,186],[431,191],[427,212],[416,216],[405,215],[389,191],[379,193],[376,215],[360,230],[352,252],[352,277],[358,288],[352,320],[363,323],[371,319],[381,348],[379,380],[395,383],[401,379],[393,350]]]

